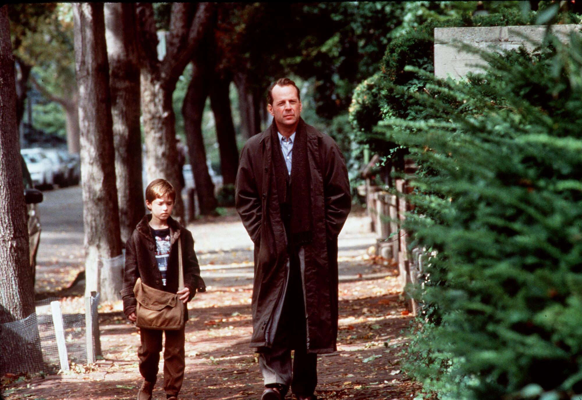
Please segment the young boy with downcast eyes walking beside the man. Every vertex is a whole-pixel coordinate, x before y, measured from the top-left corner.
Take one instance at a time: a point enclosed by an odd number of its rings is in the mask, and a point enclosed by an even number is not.
[[[177,293],[184,303],[184,324],[188,319],[186,303],[199,292],[206,291],[200,277],[200,266],[194,252],[194,240],[189,230],[170,216],[176,191],[164,179],[152,181],[145,189],[145,205],[151,215],[145,215],[125,245],[123,270],[123,312],[136,320],[136,298],[133,287],[137,278],[151,287]],[[184,288],[178,291],[178,238],[182,243]],[[177,400],[184,378],[184,327],[165,332],[164,390],[166,398]],[[159,353],[162,350],[162,331],[141,328],[141,346],[137,350],[143,384],[137,400],[150,400],[158,374]]]

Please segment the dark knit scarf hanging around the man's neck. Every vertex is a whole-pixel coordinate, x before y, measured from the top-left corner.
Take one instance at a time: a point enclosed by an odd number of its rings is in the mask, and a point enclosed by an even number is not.
[[[313,229],[311,228],[310,173],[305,123],[303,120],[299,120],[293,141],[290,185],[289,172],[285,159],[283,159],[275,123],[271,125],[271,138],[279,203],[290,205],[289,245],[297,246],[311,243]]]

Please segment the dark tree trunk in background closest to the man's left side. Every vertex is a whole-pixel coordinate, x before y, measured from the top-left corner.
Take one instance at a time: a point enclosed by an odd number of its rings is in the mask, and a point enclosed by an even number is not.
[[[210,105],[216,123],[220,151],[222,180],[224,185],[234,185],[239,166],[235,127],[232,123],[229,98],[230,79],[215,76],[210,87]]]

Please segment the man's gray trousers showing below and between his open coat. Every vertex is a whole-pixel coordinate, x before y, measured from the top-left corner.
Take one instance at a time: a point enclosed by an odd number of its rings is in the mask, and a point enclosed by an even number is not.
[[[261,348],[259,367],[265,386],[281,384],[296,395],[313,394],[317,385],[317,354],[307,353],[307,328],[299,255],[289,258],[289,283],[271,348]],[[291,359],[291,351],[294,357]]]

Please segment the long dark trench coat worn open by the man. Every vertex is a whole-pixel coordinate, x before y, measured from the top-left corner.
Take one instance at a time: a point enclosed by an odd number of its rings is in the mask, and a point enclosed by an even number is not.
[[[281,220],[271,130],[251,137],[240,155],[236,177],[236,209],[253,240],[254,283],[251,347],[271,347],[288,280],[289,255]],[[338,334],[338,234],[350,212],[346,163],[328,135],[300,120],[307,135],[308,178],[311,182],[313,240],[304,247],[302,271],[306,303],[307,351],[336,351]]]

